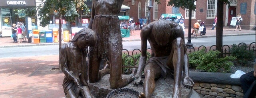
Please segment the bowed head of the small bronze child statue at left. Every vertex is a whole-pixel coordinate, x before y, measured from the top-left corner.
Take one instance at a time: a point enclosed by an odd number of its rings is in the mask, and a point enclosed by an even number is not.
[[[96,34],[92,29],[83,28],[75,33],[73,39],[70,42],[77,42],[78,45],[83,45],[83,47],[92,46],[96,42]]]

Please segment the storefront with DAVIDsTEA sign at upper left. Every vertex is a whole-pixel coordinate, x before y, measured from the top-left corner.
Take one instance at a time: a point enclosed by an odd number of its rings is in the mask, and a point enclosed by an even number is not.
[[[17,22],[23,22],[26,24],[25,13],[15,14],[16,9],[26,9],[36,7],[35,0],[0,0],[0,31],[2,37],[8,37],[12,35],[12,24]],[[32,24],[36,26],[36,17],[31,18]],[[35,21],[33,21],[35,20]]]

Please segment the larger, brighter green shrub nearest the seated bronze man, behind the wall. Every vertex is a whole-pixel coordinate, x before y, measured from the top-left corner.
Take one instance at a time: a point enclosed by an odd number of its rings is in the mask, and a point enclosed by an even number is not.
[[[229,73],[230,67],[236,57],[228,56],[218,58],[219,51],[208,51],[205,53],[205,48],[200,51],[195,51],[189,54],[189,67],[196,68],[206,72]]]

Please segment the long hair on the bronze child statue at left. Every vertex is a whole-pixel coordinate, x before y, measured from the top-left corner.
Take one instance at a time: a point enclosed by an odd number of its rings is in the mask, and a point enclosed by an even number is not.
[[[83,28],[75,33],[73,39],[70,42],[76,42],[78,39],[89,41],[91,44],[96,42],[96,34],[92,29]]]

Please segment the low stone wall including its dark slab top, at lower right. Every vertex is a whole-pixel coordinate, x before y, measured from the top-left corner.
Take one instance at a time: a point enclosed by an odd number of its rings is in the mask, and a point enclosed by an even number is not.
[[[202,98],[243,98],[240,78],[230,78],[231,73],[189,72],[193,89]]]

